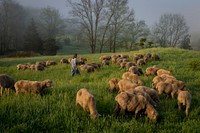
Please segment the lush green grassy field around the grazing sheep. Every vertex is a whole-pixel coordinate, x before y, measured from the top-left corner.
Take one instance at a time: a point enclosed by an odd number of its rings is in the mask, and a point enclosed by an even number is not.
[[[54,82],[54,90],[46,90],[44,96],[19,95],[12,92],[0,97],[0,132],[87,132],[87,133],[135,133],[135,132],[200,132],[200,52],[187,51],[172,48],[152,48],[140,51],[131,51],[131,59],[134,53],[156,53],[161,61],[151,61],[142,67],[157,65],[159,68],[169,70],[173,75],[186,83],[191,90],[192,105],[189,117],[185,118],[184,110],[179,112],[177,99],[165,99],[161,96],[161,104],[158,108],[159,120],[150,122],[147,117],[137,119],[133,115],[115,117],[114,98],[116,92],[108,91],[108,81],[111,78],[121,78],[125,70],[111,64],[94,73],[81,72],[81,76],[70,77],[69,64],[58,64],[46,68],[44,71],[17,70],[18,63],[35,63],[36,61],[55,60],[59,62],[62,57],[69,56],[45,56],[33,58],[4,58],[0,59],[0,73],[12,76],[16,81],[51,79]],[[117,53],[116,53],[117,54]],[[88,62],[99,62],[101,55],[87,54],[78,57],[88,58]],[[145,86],[151,86],[153,77],[141,76]],[[80,88],[90,90],[97,102],[97,110],[101,117],[93,121],[89,114],[80,107],[75,106],[75,95]]]

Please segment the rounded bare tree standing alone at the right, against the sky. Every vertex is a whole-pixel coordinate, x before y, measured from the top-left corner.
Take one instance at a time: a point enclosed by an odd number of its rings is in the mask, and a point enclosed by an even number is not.
[[[176,47],[188,34],[185,18],[179,14],[163,14],[153,29],[155,41],[161,46]]]

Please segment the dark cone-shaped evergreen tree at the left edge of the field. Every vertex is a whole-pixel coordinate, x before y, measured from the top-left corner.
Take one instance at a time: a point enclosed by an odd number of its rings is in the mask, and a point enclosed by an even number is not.
[[[24,35],[24,50],[42,54],[42,39],[32,18]]]

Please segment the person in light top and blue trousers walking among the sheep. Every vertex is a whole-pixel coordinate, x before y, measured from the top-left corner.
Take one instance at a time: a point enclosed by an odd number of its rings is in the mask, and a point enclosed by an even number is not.
[[[80,72],[77,67],[78,64],[77,54],[74,54],[70,64],[71,64],[71,76],[73,77],[75,73],[80,75]]]

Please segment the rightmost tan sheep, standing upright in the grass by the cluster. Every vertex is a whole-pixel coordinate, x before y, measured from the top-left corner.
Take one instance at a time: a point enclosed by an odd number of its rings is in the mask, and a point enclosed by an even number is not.
[[[185,114],[186,114],[186,116],[188,116],[189,115],[189,108],[191,106],[191,99],[192,99],[191,94],[189,93],[189,91],[179,90],[177,99],[178,99],[179,111],[181,110],[182,105],[185,106],[186,107]]]

